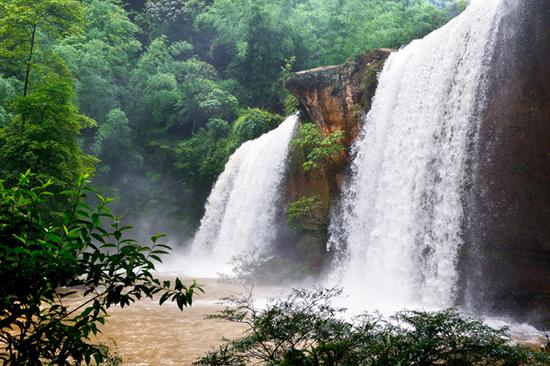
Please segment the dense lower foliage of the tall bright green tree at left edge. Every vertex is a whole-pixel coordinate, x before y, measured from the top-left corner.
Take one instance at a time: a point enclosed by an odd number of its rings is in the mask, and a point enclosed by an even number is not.
[[[30,166],[44,180],[70,186],[93,171],[93,159],[80,150],[81,128],[93,123],[78,113],[70,82],[51,78],[13,102],[14,117],[0,129],[0,167],[4,179],[16,180]]]

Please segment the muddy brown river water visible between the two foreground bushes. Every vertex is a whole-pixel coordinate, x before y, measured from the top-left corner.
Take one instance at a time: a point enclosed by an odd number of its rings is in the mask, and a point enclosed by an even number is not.
[[[191,365],[221,345],[224,337],[241,336],[246,326],[207,316],[224,309],[222,298],[247,294],[251,288],[215,279],[198,282],[205,294],[197,294],[193,306],[183,311],[174,303],[159,306],[158,300],[150,299],[111,309],[97,341],[122,357],[123,365]],[[277,289],[255,287],[253,292],[276,296]]]

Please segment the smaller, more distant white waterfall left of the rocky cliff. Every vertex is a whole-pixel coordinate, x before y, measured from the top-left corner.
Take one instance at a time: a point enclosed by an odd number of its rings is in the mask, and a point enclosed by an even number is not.
[[[280,188],[297,123],[298,115],[288,117],[229,158],[192,244],[191,257],[208,261],[209,274],[229,272],[234,256],[267,249],[275,239]]]

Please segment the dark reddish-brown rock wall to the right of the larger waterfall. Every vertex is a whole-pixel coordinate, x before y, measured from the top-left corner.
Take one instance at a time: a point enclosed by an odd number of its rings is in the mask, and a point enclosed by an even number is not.
[[[466,204],[465,302],[550,320],[550,1],[506,1]],[[547,323],[550,326],[550,323]]]

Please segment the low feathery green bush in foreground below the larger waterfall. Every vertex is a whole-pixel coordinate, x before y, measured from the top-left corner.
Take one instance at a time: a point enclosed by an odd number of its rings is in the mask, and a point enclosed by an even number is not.
[[[390,319],[363,314],[344,320],[331,300],[337,289],[294,289],[259,310],[252,296],[229,298],[214,318],[244,323],[248,331],[226,341],[199,365],[547,365],[550,356],[510,345],[493,329],[456,310],[404,311]]]

